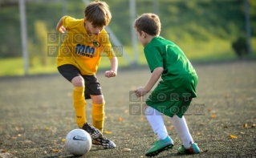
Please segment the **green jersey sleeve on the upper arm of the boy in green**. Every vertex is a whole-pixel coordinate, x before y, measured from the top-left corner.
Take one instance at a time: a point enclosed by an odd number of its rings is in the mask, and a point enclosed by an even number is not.
[[[164,67],[163,58],[156,47],[144,47],[144,55],[147,59],[148,67],[151,72],[154,71],[156,67]]]

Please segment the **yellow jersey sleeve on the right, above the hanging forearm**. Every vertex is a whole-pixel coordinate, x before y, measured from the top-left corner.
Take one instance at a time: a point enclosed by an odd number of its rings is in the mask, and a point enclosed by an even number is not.
[[[115,51],[113,50],[112,44],[110,43],[109,34],[106,30],[103,30],[103,32],[100,34],[100,43],[102,44],[102,56],[108,56],[109,59],[116,57]]]

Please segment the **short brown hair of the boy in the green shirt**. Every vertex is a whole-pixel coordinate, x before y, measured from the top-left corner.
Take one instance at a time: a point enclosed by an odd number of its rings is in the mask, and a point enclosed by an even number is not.
[[[141,31],[149,35],[159,35],[161,31],[161,22],[156,14],[145,13],[136,18],[134,28],[141,34]]]

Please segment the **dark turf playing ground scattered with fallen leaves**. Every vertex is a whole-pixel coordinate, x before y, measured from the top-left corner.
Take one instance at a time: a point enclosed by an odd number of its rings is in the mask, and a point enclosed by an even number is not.
[[[157,158],[255,157],[256,63],[230,61],[193,65],[199,77],[197,99],[193,99],[185,119],[199,155],[181,156],[181,144],[168,117],[164,117],[174,147]],[[104,136],[115,149],[92,146],[91,158],[145,158],[156,135],[143,115],[141,100],[132,91],[148,81],[148,68],[120,69],[115,78],[97,77],[104,93]],[[72,85],[59,74],[0,78],[0,157],[70,158],[63,139],[74,128]],[[132,112],[132,107],[140,107]],[[87,100],[87,120],[91,123],[91,100]],[[230,136],[232,135],[232,136]],[[232,138],[233,137],[233,138]],[[125,150],[128,148],[130,150]]]

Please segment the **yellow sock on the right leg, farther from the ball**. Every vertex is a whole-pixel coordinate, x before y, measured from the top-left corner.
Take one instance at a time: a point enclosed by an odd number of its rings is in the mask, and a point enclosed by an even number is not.
[[[101,104],[92,103],[91,108],[92,125],[98,128],[100,132],[103,132],[104,128],[104,105],[105,102]]]

